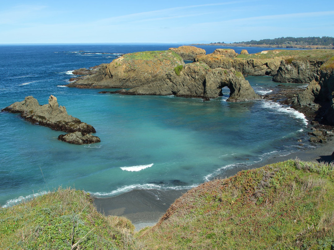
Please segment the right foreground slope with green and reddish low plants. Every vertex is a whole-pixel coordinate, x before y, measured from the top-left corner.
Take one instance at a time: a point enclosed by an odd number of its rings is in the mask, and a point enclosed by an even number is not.
[[[289,160],[204,183],[141,232],[146,249],[334,249],[333,165]]]

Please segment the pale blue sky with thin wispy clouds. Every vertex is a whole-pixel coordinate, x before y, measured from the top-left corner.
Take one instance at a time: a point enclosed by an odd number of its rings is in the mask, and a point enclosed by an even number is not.
[[[0,43],[233,42],[334,36],[334,1],[3,1]]]

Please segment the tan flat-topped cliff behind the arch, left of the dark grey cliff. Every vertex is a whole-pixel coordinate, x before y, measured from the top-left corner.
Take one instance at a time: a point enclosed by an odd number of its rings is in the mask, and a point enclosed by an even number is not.
[[[207,54],[204,56],[198,56],[195,60],[203,61],[210,66],[211,69],[234,69],[241,72],[243,75],[273,76],[277,73],[277,70],[281,65],[282,58],[244,59],[228,58],[219,54]]]

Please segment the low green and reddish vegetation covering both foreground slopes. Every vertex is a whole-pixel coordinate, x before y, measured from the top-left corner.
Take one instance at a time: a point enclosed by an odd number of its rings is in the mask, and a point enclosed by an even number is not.
[[[134,235],[72,189],[0,209],[0,249],[334,249],[334,165],[298,159],[190,190]]]

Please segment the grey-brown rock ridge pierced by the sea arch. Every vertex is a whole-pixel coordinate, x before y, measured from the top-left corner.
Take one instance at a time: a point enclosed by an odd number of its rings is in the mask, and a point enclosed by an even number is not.
[[[220,68],[211,70],[203,62],[186,65],[180,75],[170,71],[166,75],[152,79],[146,85],[118,93],[216,98],[221,94],[221,88],[225,86],[230,89],[227,101],[236,102],[259,98],[240,72]]]

